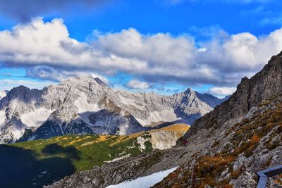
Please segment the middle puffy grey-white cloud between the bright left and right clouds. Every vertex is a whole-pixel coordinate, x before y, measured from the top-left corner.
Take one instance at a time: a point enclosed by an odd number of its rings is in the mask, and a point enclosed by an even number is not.
[[[97,41],[93,45],[104,51],[111,51],[121,57],[138,58],[150,65],[174,65],[186,66],[192,61],[195,48],[194,41],[180,35],[172,37],[168,33],[154,35],[142,35],[134,28],[122,30],[117,33],[97,34]]]

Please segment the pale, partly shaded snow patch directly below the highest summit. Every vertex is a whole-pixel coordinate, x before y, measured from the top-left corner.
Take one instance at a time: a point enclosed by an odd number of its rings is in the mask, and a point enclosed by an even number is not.
[[[81,94],[78,99],[73,103],[78,108],[78,116],[87,124],[92,125],[89,120],[89,115],[100,110],[98,104],[89,104],[87,102],[87,96]]]

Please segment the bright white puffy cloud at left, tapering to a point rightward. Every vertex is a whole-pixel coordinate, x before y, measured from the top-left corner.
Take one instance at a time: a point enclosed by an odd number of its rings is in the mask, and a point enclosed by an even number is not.
[[[146,63],[97,51],[69,37],[63,20],[44,23],[37,18],[28,25],[16,25],[0,32],[0,59],[8,64],[51,65],[112,72],[142,69]],[[111,69],[109,69],[111,68]]]

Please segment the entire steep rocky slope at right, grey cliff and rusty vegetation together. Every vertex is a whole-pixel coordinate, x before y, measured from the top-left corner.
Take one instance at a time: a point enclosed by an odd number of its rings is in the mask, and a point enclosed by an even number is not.
[[[254,77],[244,77],[230,99],[195,121],[184,138],[197,142],[207,132],[209,137],[202,139],[206,146],[155,187],[256,187],[258,170],[282,163],[281,78],[282,52]]]

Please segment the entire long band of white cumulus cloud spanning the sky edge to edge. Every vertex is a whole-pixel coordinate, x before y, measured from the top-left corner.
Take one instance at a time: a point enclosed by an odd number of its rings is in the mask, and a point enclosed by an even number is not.
[[[99,33],[86,42],[68,34],[63,20],[42,18],[0,31],[0,62],[27,69],[28,77],[61,80],[94,73],[127,73],[151,84],[213,84],[230,87],[251,76],[282,50],[282,28],[269,35],[224,34],[207,42],[190,35],[144,35],[130,28]],[[130,87],[130,86],[129,86]],[[142,87],[148,87],[145,84]]]

